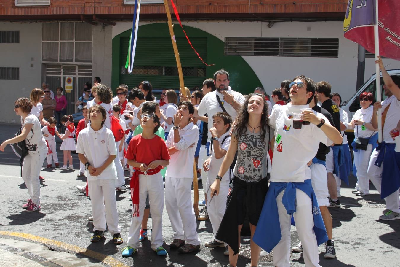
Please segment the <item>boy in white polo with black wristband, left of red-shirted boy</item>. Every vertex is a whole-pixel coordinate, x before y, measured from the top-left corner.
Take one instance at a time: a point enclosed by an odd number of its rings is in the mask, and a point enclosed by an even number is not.
[[[117,156],[112,131],[104,126],[106,109],[101,105],[89,109],[90,126],[79,133],[76,153],[87,169],[86,177],[92,203],[94,233],[90,242],[98,242],[108,227],[114,244],[122,244],[121,227],[115,202],[117,173],[114,159]]]

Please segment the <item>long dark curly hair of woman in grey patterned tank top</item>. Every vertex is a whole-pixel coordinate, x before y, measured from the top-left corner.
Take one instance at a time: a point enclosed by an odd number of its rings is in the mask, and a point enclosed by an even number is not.
[[[266,146],[267,144],[265,143],[265,135],[266,135],[266,129],[268,128],[268,103],[266,102],[262,94],[251,93],[248,96],[246,96],[242,108],[238,110],[238,114],[236,115],[235,121],[233,123],[234,130],[236,130],[235,138],[237,141],[239,141],[239,137],[246,132],[247,124],[249,121],[249,113],[247,111],[247,106],[252,96],[260,96],[262,98],[262,101],[264,102],[264,107],[262,109],[261,121],[260,121],[260,134],[262,142]]]

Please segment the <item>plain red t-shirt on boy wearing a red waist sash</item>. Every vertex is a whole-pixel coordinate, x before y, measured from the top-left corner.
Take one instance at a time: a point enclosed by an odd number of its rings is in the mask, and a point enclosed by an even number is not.
[[[130,140],[125,158],[149,165],[151,162],[159,159],[169,160],[170,153],[165,141],[158,135],[152,139],[144,139],[142,138],[142,134],[140,134]],[[157,171],[151,174],[158,173],[162,168],[162,166],[158,166]]]

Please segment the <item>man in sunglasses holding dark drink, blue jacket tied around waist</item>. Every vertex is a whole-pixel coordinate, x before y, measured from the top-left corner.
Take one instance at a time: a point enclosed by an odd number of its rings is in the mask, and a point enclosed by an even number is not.
[[[290,225],[293,215],[302,242],[306,266],[320,266],[318,245],[328,240],[324,221],[312,189],[308,163],[320,143],[342,143],[340,132],[321,113],[310,108],[316,84],[306,76],[297,76],[290,84],[291,102],[272,110],[268,124],[275,129],[274,159],[270,188],[258,220],[254,242],[267,252],[274,249],[274,266],[290,266]],[[294,128],[294,112],[302,112],[300,129]]]

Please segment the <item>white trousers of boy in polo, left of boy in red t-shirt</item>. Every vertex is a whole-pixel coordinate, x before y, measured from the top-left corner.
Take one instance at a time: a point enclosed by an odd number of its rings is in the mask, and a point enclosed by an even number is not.
[[[121,233],[114,179],[88,181],[88,189],[92,203],[93,230],[105,231],[108,226],[110,234]]]

